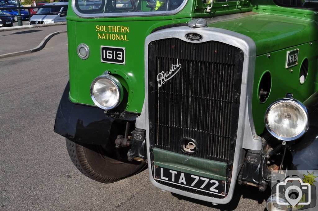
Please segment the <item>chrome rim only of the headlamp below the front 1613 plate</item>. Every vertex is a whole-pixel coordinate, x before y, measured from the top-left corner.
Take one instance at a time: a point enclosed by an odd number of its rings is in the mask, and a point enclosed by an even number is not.
[[[93,93],[94,85],[100,78],[107,78],[108,80],[110,80],[115,85],[115,87],[118,90],[119,98],[118,98],[117,102],[114,105],[112,105],[112,106],[106,107],[106,106],[100,105],[100,103],[96,100],[96,98],[94,96],[94,93]],[[91,87],[90,87],[90,93],[91,93],[91,98],[92,98],[94,104],[97,105],[98,107],[100,107],[101,109],[104,109],[104,110],[110,110],[110,109],[113,109],[113,108],[117,107],[121,103],[121,101],[123,99],[123,88],[122,88],[121,83],[119,82],[119,80],[117,78],[115,78],[112,75],[109,75],[108,71],[106,71],[103,75],[98,76],[97,78],[95,78],[92,81]]]

